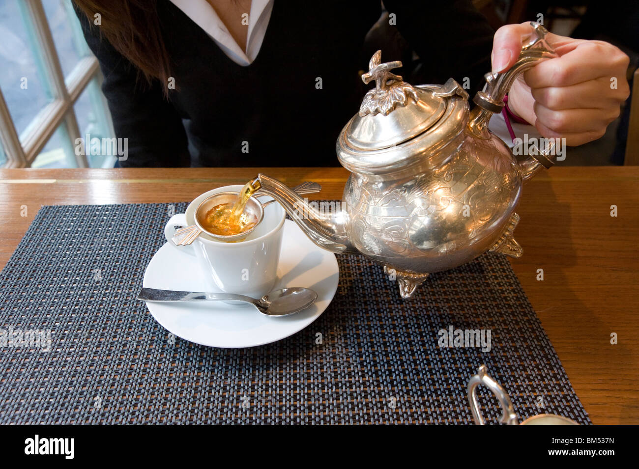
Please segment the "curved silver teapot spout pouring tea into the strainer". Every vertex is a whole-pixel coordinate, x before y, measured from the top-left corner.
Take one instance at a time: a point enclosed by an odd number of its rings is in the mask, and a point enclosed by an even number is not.
[[[314,207],[316,202],[309,203],[308,199],[300,197],[277,179],[264,174],[258,174],[257,179],[261,186],[260,190],[277,200],[288,216],[320,248],[333,253],[357,252],[346,234],[348,215],[337,209],[339,205],[328,205],[329,209],[330,207],[335,209],[325,213],[324,210],[320,211],[318,207]]]

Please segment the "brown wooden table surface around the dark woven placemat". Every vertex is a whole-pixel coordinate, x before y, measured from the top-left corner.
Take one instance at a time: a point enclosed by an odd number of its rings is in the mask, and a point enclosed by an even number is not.
[[[343,168],[267,168],[341,198]],[[255,168],[0,170],[0,266],[40,205],[187,202]],[[617,216],[610,216],[611,205]],[[511,260],[592,422],[639,424],[639,167],[557,167],[524,188]],[[543,281],[537,270],[543,269]],[[617,334],[612,345],[611,334]]]

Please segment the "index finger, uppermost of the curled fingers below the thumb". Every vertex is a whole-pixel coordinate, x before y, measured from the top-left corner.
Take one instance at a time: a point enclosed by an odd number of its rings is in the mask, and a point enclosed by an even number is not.
[[[584,41],[567,54],[542,61],[524,73],[532,88],[571,86],[599,77],[619,74],[627,56],[616,47],[599,41]]]

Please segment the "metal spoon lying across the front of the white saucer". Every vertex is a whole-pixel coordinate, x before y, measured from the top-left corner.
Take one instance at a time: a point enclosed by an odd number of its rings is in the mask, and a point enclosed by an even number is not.
[[[245,301],[265,316],[288,316],[298,313],[311,306],[317,298],[316,292],[302,287],[273,290],[259,300],[231,293],[177,292],[157,288],[142,288],[137,295],[137,299],[142,301]]]

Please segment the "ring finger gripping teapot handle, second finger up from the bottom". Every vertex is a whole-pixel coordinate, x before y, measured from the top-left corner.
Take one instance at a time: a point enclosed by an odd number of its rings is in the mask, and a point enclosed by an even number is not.
[[[534,105],[537,124],[543,124],[547,130],[562,137],[564,133],[581,133],[598,131],[614,121],[619,116],[619,107],[616,108],[587,108],[552,110],[536,103]],[[544,135],[546,137],[546,135]]]

